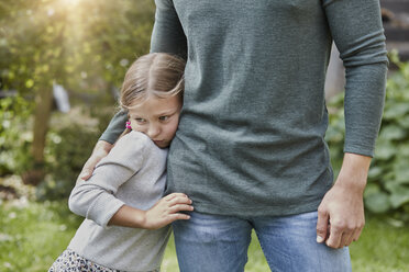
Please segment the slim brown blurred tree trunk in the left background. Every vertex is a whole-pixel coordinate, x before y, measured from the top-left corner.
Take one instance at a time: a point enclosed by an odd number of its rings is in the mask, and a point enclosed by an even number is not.
[[[23,174],[25,184],[37,185],[44,179],[44,147],[53,105],[53,88],[38,90],[35,98],[32,155],[33,169]]]

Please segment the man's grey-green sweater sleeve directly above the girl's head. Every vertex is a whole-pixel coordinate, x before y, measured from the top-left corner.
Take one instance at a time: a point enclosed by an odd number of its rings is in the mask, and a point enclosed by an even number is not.
[[[155,0],[155,24],[151,52],[162,52],[186,58],[187,39],[172,0]]]

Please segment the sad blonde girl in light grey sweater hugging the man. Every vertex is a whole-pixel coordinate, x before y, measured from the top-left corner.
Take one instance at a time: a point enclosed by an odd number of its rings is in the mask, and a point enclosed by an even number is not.
[[[167,147],[183,103],[185,61],[148,54],[128,70],[120,105],[126,129],[88,181],[78,179],[69,208],[86,219],[51,271],[159,271],[168,224],[189,219],[181,193],[163,196]]]

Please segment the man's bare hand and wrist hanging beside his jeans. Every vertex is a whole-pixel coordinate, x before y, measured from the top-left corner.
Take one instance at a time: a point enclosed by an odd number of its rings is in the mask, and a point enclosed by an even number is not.
[[[318,207],[317,242],[342,248],[356,241],[365,225],[363,194],[371,158],[345,154],[333,188]]]

